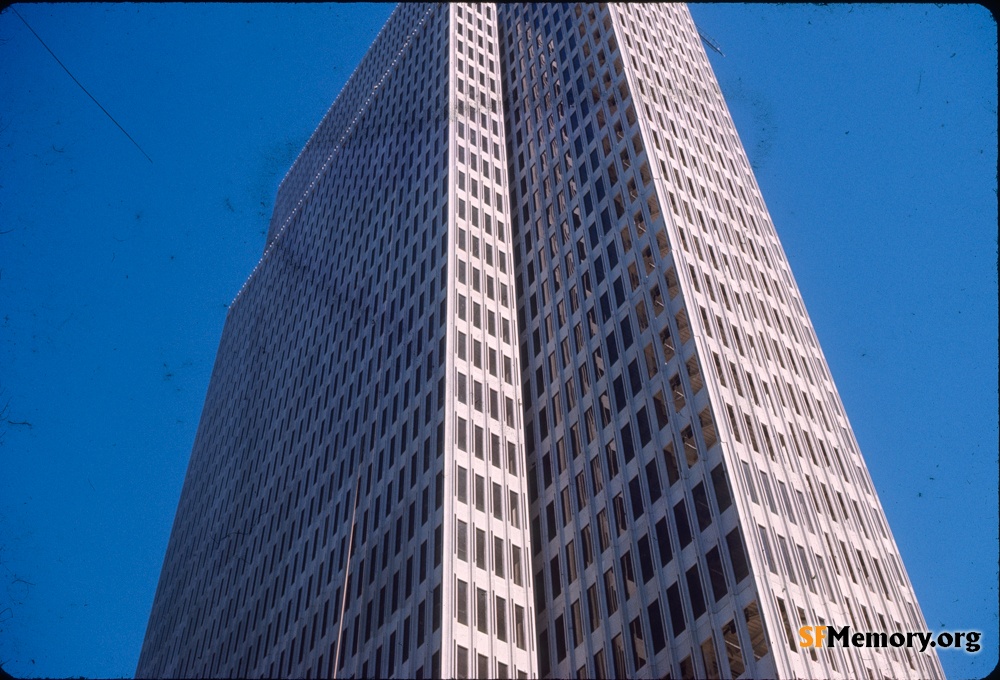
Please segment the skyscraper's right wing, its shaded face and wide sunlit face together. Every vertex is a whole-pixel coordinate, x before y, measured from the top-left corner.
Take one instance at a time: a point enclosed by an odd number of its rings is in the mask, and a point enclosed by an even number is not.
[[[542,671],[936,673],[757,639],[922,621],[687,10],[500,29]]]

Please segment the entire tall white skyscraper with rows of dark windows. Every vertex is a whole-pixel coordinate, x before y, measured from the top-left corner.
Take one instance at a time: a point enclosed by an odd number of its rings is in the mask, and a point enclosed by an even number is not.
[[[681,5],[401,4],[230,307],[139,676],[943,677]]]

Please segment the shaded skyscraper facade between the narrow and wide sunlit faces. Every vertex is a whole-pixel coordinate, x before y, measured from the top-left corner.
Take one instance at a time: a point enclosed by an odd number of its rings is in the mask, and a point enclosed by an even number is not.
[[[726,573],[746,560],[738,533],[720,540],[736,526],[724,463],[711,487],[696,465],[714,419],[697,358],[680,360],[688,324],[611,15],[504,7],[501,28],[539,664],[678,673],[669,650],[705,649],[708,584],[718,601],[749,572]]]

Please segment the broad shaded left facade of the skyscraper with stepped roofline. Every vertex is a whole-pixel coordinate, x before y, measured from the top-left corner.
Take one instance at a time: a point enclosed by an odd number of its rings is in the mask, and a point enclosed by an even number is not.
[[[227,318],[139,675],[435,671],[447,31],[446,11],[401,6],[282,185]]]

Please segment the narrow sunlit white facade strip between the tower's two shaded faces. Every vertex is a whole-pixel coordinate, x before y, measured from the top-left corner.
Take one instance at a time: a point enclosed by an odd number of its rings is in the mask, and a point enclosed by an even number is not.
[[[451,14],[456,446],[445,524],[455,527],[456,559],[445,574],[459,587],[444,625],[454,654],[444,650],[442,668],[455,677],[528,676],[536,674],[534,604],[525,578],[530,539],[496,15],[490,5],[458,5]]]

